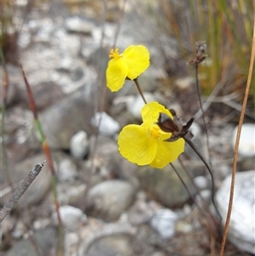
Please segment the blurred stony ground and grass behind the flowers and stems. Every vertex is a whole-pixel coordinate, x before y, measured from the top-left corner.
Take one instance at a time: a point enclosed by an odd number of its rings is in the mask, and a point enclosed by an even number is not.
[[[218,255],[220,236],[205,224],[172,168],[138,167],[120,156],[117,134],[128,123],[142,122],[143,103],[131,81],[112,94],[105,70],[111,48],[149,49],[150,67],[139,77],[144,97],[173,108],[184,123],[195,117],[193,142],[212,163],[215,196],[225,216],[254,1],[3,0],[0,8],[1,207],[45,159],[21,64],[57,171],[65,255],[204,256],[213,250]],[[199,93],[195,66],[187,63],[200,40],[207,43],[207,58],[198,67]],[[236,198],[224,255],[255,254],[254,198],[246,196],[254,196],[254,84],[253,75],[237,168],[236,191],[241,188],[243,197]],[[190,178],[175,165],[190,194],[210,204],[212,183],[203,163],[188,146],[180,158]],[[3,255],[56,254],[58,224],[47,164],[42,171],[2,223]]]

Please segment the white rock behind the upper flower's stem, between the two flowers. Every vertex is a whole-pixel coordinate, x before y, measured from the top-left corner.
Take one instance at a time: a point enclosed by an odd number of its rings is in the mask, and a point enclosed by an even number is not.
[[[142,120],[141,110],[144,106],[144,100],[141,95],[137,95],[136,97],[129,98],[127,100],[127,111],[136,119]],[[148,102],[156,101],[156,98],[153,94],[144,92],[144,99]]]

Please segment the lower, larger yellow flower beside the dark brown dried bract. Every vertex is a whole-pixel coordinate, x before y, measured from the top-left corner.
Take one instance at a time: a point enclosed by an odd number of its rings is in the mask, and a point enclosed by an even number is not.
[[[119,151],[129,162],[164,168],[184,151],[184,139],[165,141],[171,134],[163,132],[156,124],[159,113],[173,119],[163,105],[150,102],[141,111],[142,125],[129,124],[122,129],[118,139]]]

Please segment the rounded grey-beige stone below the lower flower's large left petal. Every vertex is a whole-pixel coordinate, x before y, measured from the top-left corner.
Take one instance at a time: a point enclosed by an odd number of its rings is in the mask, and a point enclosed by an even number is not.
[[[133,185],[126,181],[99,183],[88,191],[86,213],[107,222],[115,221],[133,202],[135,192]]]

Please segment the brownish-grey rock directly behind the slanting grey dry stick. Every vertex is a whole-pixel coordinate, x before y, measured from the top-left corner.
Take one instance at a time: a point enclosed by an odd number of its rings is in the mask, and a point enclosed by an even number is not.
[[[27,174],[35,167],[39,162],[44,161],[44,154],[37,156],[32,156],[27,158],[23,162],[19,162],[15,167],[13,172],[11,172],[11,178],[14,185],[19,185],[20,182],[26,178]],[[12,169],[11,169],[12,170]],[[7,185],[3,185],[3,188]],[[29,188],[25,191],[23,196],[19,200],[19,207],[26,208],[31,205],[37,204],[42,201],[46,196],[51,187],[51,172],[48,167],[48,163],[45,162],[40,174],[37,175],[37,178],[32,182]],[[2,197],[2,202],[5,204],[8,202],[9,197],[11,196],[11,191],[8,194],[5,194]]]

